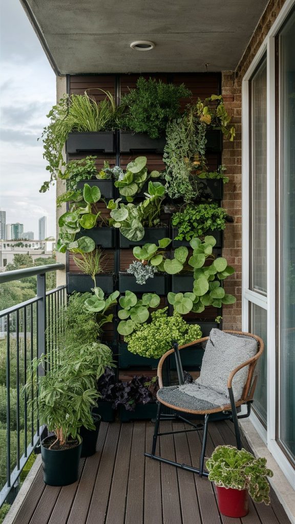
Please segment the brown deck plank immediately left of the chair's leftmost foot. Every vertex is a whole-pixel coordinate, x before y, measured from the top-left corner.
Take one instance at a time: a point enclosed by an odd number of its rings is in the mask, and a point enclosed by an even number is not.
[[[142,524],[144,501],[145,428],[134,424],[124,524]]]

